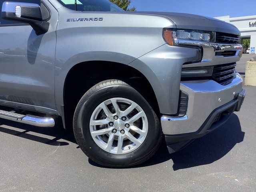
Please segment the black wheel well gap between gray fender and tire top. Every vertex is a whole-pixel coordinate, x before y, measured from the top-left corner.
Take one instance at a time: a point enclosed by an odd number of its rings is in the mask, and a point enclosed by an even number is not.
[[[83,94],[95,84],[108,79],[122,80],[133,86],[160,116],[152,85],[142,72],[126,63],[92,60],[75,64],[66,74],[61,107],[64,128],[68,129],[72,125],[74,110]]]

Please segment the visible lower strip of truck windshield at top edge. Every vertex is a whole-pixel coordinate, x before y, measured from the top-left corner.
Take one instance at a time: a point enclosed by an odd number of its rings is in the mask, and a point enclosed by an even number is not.
[[[58,0],[66,8],[77,11],[124,11],[108,0]]]

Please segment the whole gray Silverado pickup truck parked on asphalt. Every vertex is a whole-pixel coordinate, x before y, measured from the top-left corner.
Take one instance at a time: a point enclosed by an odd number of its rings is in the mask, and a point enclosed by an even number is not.
[[[124,12],[108,0],[0,8],[0,118],[49,128],[59,116],[98,164],[140,164],[163,138],[176,152],[240,110],[242,46],[232,24]]]

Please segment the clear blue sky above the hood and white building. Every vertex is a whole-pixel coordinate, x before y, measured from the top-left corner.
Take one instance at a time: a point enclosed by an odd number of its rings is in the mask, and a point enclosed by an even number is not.
[[[131,0],[137,11],[164,11],[230,17],[256,15],[256,0]]]

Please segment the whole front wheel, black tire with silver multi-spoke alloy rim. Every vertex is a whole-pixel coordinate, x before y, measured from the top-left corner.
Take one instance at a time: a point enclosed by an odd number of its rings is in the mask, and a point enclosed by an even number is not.
[[[91,160],[112,167],[148,160],[162,139],[154,110],[120,80],[100,82],[84,94],[75,110],[74,134]]]

